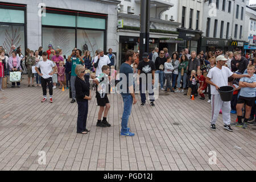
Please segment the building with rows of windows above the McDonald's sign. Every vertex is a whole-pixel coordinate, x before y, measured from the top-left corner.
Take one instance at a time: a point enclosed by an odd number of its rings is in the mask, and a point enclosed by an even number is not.
[[[224,51],[243,49],[245,0],[208,0],[204,2],[203,36],[201,49]]]

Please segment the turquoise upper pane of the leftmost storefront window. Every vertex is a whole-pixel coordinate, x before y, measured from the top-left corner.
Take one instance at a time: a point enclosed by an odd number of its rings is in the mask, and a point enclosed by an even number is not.
[[[0,22],[5,23],[24,23],[23,10],[0,9]]]

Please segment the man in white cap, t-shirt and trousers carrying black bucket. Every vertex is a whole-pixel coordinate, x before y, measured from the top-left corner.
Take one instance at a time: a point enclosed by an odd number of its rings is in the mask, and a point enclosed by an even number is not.
[[[230,71],[228,67],[225,67],[226,59],[224,56],[220,55],[216,57],[217,65],[216,67],[210,69],[206,82],[210,84],[210,94],[212,94],[212,120],[210,121],[210,128],[216,130],[215,123],[218,119],[218,114],[220,109],[222,110],[222,119],[224,122],[224,129],[228,131],[233,131],[230,127],[230,101],[224,102],[221,100],[218,89],[221,86],[228,86],[228,77],[232,76],[234,78],[250,77],[249,75],[237,75]]]

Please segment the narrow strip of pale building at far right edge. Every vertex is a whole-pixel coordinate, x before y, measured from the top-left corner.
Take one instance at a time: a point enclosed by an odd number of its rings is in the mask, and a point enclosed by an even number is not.
[[[245,15],[246,28],[243,32],[243,38],[246,41],[244,49],[247,52],[256,49],[256,5],[250,5],[247,1],[246,15]]]

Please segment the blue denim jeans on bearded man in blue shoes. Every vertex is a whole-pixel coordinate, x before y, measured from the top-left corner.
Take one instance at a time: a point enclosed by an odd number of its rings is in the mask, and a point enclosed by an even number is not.
[[[131,108],[133,106],[133,97],[131,96],[131,94],[122,94],[121,96],[123,98],[123,116],[121,122],[121,132],[127,133],[127,125],[131,114]]]

